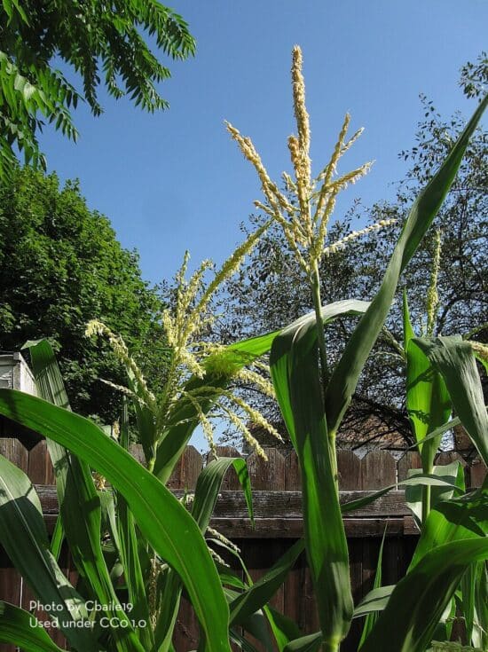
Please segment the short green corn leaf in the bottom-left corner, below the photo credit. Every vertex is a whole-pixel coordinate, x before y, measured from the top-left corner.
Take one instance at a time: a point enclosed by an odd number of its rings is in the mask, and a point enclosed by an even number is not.
[[[0,602],[0,642],[12,643],[26,652],[63,652],[28,611]]]

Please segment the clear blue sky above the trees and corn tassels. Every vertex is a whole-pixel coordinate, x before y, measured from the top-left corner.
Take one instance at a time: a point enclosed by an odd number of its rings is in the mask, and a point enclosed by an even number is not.
[[[197,39],[197,54],[171,62],[161,84],[170,109],[145,114],[101,93],[105,114],[75,114],[78,144],[46,128],[50,170],[78,177],[91,208],[110,217],[125,247],[137,247],[146,279],[168,279],[185,248],[193,265],[224,259],[240,240],[239,224],[260,197],[254,170],[227,136],[223,121],[253,137],[272,174],[289,169],[294,130],[290,51],[303,48],[312,159],[327,161],[343,114],[366,128],[344,159],[350,169],[374,159],[353,186],[367,203],[391,196],[421,119],[419,92],[441,114],[474,103],[457,87],[460,66],[486,49],[486,0],[175,0]],[[346,169],[345,167],[343,169]]]

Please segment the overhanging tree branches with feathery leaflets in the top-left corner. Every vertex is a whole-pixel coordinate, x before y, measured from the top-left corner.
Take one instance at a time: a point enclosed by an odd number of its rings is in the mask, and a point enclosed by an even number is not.
[[[156,0],[2,0],[0,9],[0,179],[16,161],[44,166],[36,132],[43,121],[77,137],[71,108],[85,101],[102,112],[98,87],[102,76],[114,98],[129,95],[147,111],[164,109],[155,84],[170,76],[146,43],[172,59],[195,50],[185,20]],[[57,69],[65,62],[81,75],[76,90]]]

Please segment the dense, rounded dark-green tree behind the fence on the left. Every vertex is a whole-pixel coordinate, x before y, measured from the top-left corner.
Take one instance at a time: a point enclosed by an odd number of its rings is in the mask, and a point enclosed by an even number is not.
[[[0,350],[49,338],[76,412],[112,422],[120,395],[98,378],[125,384],[109,349],[84,336],[86,322],[100,318],[121,333],[157,389],[165,356],[160,311],[138,255],[87,208],[76,182],[60,188],[54,174],[17,169],[0,188]]]

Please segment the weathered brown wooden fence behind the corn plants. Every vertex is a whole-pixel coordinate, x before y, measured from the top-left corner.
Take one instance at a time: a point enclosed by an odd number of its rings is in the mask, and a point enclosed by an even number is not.
[[[27,451],[16,439],[0,438],[0,453],[22,468],[35,483],[48,530],[51,530],[58,514],[58,503],[45,442],[41,441],[32,450]],[[132,453],[141,459],[140,447],[134,446]],[[221,456],[239,455],[232,447],[220,447],[218,453]],[[268,449],[267,454],[268,462],[264,462],[256,454],[247,459],[253,486],[256,528],[253,529],[248,520],[245,501],[233,470],[224,480],[211,522],[212,527],[232,538],[240,547],[241,556],[254,580],[261,577],[303,532],[300,471],[295,452],[283,456],[274,449]],[[437,464],[447,464],[453,460],[460,460],[465,467],[468,486],[475,487],[482,483],[486,468],[479,460],[468,466],[458,453],[449,452],[440,453]],[[189,446],[169,480],[169,488],[177,494],[192,490],[204,463],[201,454]],[[339,451],[341,500],[349,501],[364,495],[363,491],[395,484],[405,479],[409,468],[420,466],[419,455],[415,452],[407,452],[397,462],[387,451],[369,452],[361,460],[353,452]],[[396,583],[397,579],[405,574],[418,531],[408,508],[405,507],[403,491],[390,491],[372,505],[348,513],[344,522],[350,547],[352,592],[354,601],[358,602],[373,585],[385,527],[387,535],[382,566],[382,581],[385,585]],[[75,582],[76,573],[70,565],[67,551],[62,558],[62,567],[71,581]],[[233,563],[232,567],[238,570]],[[32,599],[28,586],[22,582],[0,550],[0,600],[28,608]],[[318,631],[319,620],[311,577],[304,556],[289,573],[285,584],[274,596],[272,605],[293,618],[303,632]],[[343,652],[353,652],[357,649],[360,629],[361,623],[353,621],[350,634],[341,648]],[[62,647],[59,633],[56,634],[56,640]],[[197,640],[198,624],[193,610],[183,601],[177,619],[175,648],[177,652],[193,650],[197,647]],[[0,652],[12,652],[13,649],[12,646],[0,645]]]

